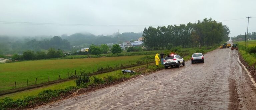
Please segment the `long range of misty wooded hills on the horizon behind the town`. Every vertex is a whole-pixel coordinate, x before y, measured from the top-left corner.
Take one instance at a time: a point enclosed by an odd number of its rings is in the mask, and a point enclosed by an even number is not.
[[[106,43],[122,43],[135,41],[142,37],[141,33],[119,32],[112,35],[93,35],[90,33],[75,33],[70,36],[37,36],[37,37],[10,37],[0,35],[0,54],[23,53],[26,50],[44,51],[49,48],[63,51],[77,51],[87,48],[91,44],[101,45]],[[104,53],[104,52],[103,52]]]

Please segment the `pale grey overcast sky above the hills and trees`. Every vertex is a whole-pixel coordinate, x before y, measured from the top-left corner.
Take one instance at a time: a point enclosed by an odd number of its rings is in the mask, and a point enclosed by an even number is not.
[[[256,32],[255,4],[255,0],[0,0],[0,35],[111,35],[117,29],[120,33],[142,32],[150,25],[195,23],[211,17],[230,20],[222,23],[230,28],[232,37],[245,34],[247,16],[254,17],[249,19],[249,32]],[[18,23],[3,24],[7,22]]]

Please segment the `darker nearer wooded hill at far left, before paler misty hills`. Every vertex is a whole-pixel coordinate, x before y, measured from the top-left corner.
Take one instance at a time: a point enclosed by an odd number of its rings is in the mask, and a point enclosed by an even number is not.
[[[54,37],[8,37],[0,36],[0,54],[23,53],[26,50],[45,51],[49,48],[70,50],[68,40]]]

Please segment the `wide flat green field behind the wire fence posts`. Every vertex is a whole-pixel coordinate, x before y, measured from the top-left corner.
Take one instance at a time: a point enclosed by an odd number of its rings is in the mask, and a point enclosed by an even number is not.
[[[94,72],[98,67],[106,68],[107,64],[111,67],[116,65],[129,65],[129,61],[138,61],[145,55],[139,56],[121,56],[121,57],[101,57],[101,58],[85,58],[85,59],[59,59],[59,60],[35,60],[35,61],[23,61],[14,63],[0,64],[0,91],[15,88],[15,81],[17,88],[35,84],[48,82],[48,76],[50,81],[59,79],[60,77],[68,78],[68,72],[74,75],[80,73],[81,70]]]

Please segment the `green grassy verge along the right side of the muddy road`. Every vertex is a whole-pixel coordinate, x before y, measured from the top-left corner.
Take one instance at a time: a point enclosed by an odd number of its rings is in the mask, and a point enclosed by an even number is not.
[[[245,41],[240,41],[239,42],[239,46],[238,46],[239,53],[242,55],[243,59],[250,66],[253,66],[253,65],[256,64],[256,56],[246,52],[245,44],[246,44]],[[256,40],[249,40],[248,41],[248,48],[254,47],[254,46],[256,46]],[[256,68],[256,65],[255,65],[255,68]]]

